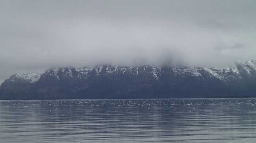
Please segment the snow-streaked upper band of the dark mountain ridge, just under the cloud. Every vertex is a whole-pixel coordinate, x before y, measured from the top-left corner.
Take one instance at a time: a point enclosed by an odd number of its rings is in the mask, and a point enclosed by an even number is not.
[[[223,68],[201,68],[201,67],[167,67],[170,74],[176,76],[197,76],[209,75],[210,78],[216,78],[219,80],[242,80],[240,74],[241,71],[246,71],[248,76],[251,76],[251,72],[256,71],[256,61],[247,60],[236,63],[235,67],[223,67]],[[238,68],[239,67],[239,68]],[[161,75],[165,71],[161,71],[162,67],[153,65],[136,66],[136,67],[124,67],[124,66],[112,66],[112,65],[100,65],[94,68],[50,68],[47,69],[42,75],[37,73],[29,74],[15,74],[8,80],[15,81],[28,81],[30,83],[37,82],[40,78],[52,77],[60,80],[62,78],[74,78],[74,79],[87,79],[89,76],[96,75],[113,75],[124,74],[130,76],[139,76],[140,74],[151,75],[155,80],[160,80]]]

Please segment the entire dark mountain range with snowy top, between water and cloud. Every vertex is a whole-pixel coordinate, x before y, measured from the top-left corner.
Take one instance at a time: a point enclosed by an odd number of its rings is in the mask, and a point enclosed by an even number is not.
[[[15,74],[0,99],[125,99],[256,97],[256,61],[235,67],[114,67],[48,69]]]

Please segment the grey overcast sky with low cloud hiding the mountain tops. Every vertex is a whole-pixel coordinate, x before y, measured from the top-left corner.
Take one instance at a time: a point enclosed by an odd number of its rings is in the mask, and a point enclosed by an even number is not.
[[[97,64],[256,59],[255,0],[0,0],[0,83]]]

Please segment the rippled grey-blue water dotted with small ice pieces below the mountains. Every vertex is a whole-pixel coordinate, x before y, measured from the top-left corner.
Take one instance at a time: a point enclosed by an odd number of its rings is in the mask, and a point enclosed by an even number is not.
[[[256,99],[0,101],[0,142],[254,143]]]

